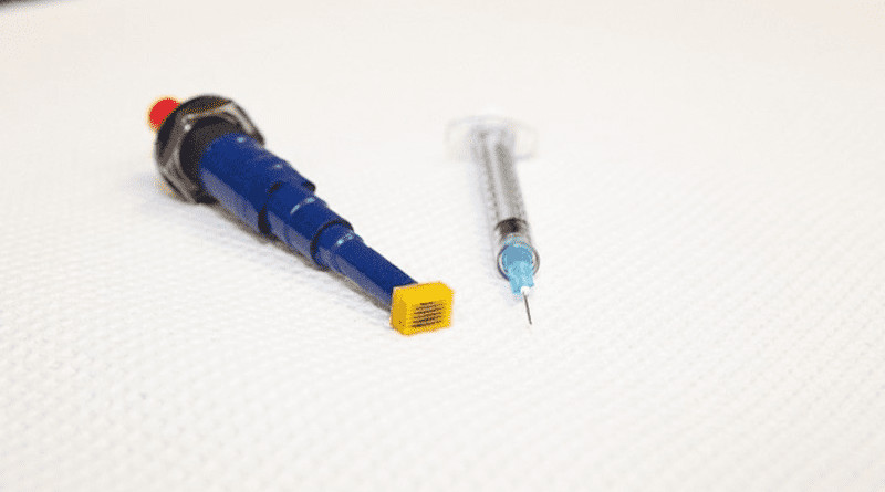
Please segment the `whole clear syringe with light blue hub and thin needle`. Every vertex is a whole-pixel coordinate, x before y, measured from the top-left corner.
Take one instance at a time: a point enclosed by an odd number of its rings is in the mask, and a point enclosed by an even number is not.
[[[449,129],[450,142],[462,143],[466,154],[479,166],[498,271],[510,282],[513,295],[522,296],[531,324],[529,293],[540,257],[532,245],[514,164],[518,157],[531,155],[533,134],[513,122],[488,116],[455,122]],[[525,151],[518,154],[517,145]]]

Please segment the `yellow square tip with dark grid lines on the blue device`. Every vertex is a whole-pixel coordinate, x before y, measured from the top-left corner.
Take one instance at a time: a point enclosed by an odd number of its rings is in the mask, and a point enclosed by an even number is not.
[[[403,335],[451,325],[455,292],[442,282],[416,283],[394,289],[391,326]]]

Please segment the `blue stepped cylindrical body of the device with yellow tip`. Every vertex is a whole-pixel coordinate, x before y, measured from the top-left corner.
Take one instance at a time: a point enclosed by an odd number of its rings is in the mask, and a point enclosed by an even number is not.
[[[351,279],[385,306],[394,287],[415,283],[316,197],[312,182],[246,134],[212,140],[200,158],[199,179],[257,232],[272,234],[317,266]]]

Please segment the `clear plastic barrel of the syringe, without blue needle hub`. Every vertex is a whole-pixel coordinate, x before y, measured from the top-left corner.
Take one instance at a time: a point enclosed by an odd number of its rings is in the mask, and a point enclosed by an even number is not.
[[[479,167],[483,199],[492,228],[498,271],[507,278],[504,250],[521,245],[531,251],[532,271],[540,264],[532,245],[525,207],[516,170],[517,134],[506,122],[477,124],[469,130],[469,153]]]

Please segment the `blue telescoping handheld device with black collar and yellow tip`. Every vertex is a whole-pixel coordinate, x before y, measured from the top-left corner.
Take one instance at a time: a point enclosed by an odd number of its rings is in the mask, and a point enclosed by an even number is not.
[[[206,96],[192,101],[205,104]],[[181,106],[187,108],[190,102]],[[158,139],[175,133],[166,125],[178,124],[179,111],[165,118]],[[223,116],[216,111],[200,118],[191,112],[183,118],[185,135],[179,139],[179,161],[175,164],[180,163],[181,172],[176,177],[188,180],[186,188],[196,190],[197,197],[218,200],[256,232],[278,238],[316,266],[334,270],[355,282],[392,308],[391,324],[400,333],[450,324],[450,289],[439,282],[417,284],[367,247],[350,222],[314,195],[311,181],[263,148],[262,142],[253,137],[257,130],[244,133],[236,121]],[[159,143],[158,147],[164,145],[165,142]],[[158,164],[163,166],[159,159]]]

